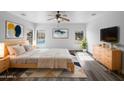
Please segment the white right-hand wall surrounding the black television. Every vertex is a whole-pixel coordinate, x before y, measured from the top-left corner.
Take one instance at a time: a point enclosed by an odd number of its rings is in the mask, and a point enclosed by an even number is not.
[[[87,25],[87,39],[88,51],[92,53],[93,45],[100,42],[100,29],[112,26],[120,27],[120,46],[119,48],[124,51],[124,12],[110,12],[108,14],[99,16],[98,18],[90,21]],[[123,57],[123,73],[124,73],[124,57]]]

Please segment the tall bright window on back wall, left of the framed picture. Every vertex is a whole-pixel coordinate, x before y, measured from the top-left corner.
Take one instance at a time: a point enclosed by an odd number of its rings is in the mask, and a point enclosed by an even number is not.
[[[37,46],[43,47],[45,45],[45,32],[42,30],[37,31]]]

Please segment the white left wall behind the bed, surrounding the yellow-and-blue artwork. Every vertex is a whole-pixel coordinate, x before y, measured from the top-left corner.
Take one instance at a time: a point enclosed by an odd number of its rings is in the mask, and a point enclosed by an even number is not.
[[[5,40],[5,21],[12,21],[24,26],[24,39],[26,38],[26,33],[29,30],[33,30],[33,24],[25,21],[19,17],[16,17],[8,12],[0,12],[0,42]],[[13,39],[11,39],[13,40]]]

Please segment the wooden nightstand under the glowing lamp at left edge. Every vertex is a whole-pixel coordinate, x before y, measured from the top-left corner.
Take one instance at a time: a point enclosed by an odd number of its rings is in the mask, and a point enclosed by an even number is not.
[[[5,70],[8,70],[9,65],[9,56],[0,59],[0,73],[4,72]]]

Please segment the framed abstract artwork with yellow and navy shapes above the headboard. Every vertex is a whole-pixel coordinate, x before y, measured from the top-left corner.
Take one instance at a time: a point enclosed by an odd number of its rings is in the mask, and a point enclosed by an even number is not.
[[[24,27],[15,22],[5,21],[5,38],[20,39],[24,38]]]

